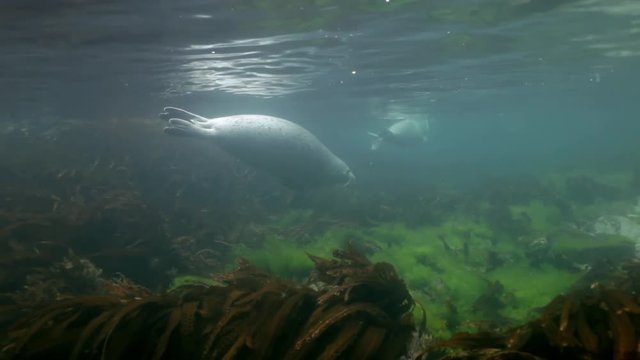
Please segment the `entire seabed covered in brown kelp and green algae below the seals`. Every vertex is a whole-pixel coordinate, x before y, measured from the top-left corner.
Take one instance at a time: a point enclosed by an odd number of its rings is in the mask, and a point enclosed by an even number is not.
[[[640,356],[640,160],[302,207],[149,129],[3,133],[0,358]]]

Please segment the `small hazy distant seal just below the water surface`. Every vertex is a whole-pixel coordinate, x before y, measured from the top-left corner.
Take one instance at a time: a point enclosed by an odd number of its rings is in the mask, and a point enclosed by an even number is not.
[[[371,150],[377,150],[382,143],[397,146],[413,146],[427,141],[428,120],[401,120],[380,132],[369,132],[373,138]]]

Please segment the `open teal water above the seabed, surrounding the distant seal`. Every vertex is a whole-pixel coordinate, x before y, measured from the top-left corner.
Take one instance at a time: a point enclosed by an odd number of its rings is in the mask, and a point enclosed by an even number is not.
[[[0,7],[2,123],[36,132],[164,105],[267,113],[308,127],[365,183],[610,163],[636,149],[634,1]],[[428,143],[370,154],[366,131],[411,116],[431,120]]]

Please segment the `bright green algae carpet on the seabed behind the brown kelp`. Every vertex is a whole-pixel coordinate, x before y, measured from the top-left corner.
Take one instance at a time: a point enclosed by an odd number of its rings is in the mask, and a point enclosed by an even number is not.
[[[627,183],[623,176],[613,175],[606,181],[617,189]],[[239,247],[234,255],[280,276],[304,280],[312,268],[307,253],[328,256],[332,249],[352,242],[372,261],[395,267],[424,308],[428,330],[435,337],[520,324],[580,281],[588,268],[582,265],[603,256],[621,259],[633,253],[634,244],[625,237],[593,236],[568,226],[571,216],[594,219],[629,209],[633,206],[629,200],[569,202],[568,215],[567,202],[558,201],[564,200],[566,179],[548,176],[540,184],[550,195],[512,203],[480,200],[473,210],[449,214],[437,224],[334,227],[309,233],[304,244],[267,236],[261,246]],[[491,218],[488,213],[496,206],[504,211]],[[313,215],[292,212],[274,220],[277,226],[288,227],[310,221]],[[511,231],[510,222],[522,226]],[[532,255],[537,241],[543,248]],[[415,316],[422,316],[421,307]]]

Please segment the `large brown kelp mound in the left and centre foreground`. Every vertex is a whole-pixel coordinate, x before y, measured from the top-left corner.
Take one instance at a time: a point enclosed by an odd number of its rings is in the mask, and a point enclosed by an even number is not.
[[[28,314],[6,334],[16,359],[391,359],[407,350],[413,300],[386,263],[348,248],[301,286],[241,260],[223,286],[87,295]]]

